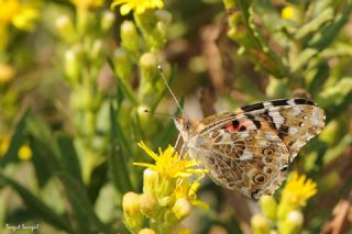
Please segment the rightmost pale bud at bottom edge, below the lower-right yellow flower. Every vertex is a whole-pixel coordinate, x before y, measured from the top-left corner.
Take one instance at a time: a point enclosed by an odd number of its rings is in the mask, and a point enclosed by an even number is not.
[[[300,211],[290,211],[286,220],[278,225],[278,233],[280,234],[296,234],[300,233],[304,224],[304,215]]]

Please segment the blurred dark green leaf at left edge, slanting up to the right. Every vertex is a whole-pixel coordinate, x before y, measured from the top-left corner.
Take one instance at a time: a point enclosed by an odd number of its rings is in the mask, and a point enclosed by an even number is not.
[[[16,163],[19,160],[18,152],[25,141],[26,120],[30,112],[30,110],[26,110],[19,121],[14,134],[11,137],[11,143],[8,152],[3,157],[0,158],[0,168],[3,168],[10,163]]]

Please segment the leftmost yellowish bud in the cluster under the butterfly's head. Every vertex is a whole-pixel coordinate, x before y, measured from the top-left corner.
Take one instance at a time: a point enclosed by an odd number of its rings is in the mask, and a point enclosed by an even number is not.
[[[122,207],[125,225],[133,232],[139,231],[144,222],[144,216],[140,211],[139,194],[134,192],[123,194]]]

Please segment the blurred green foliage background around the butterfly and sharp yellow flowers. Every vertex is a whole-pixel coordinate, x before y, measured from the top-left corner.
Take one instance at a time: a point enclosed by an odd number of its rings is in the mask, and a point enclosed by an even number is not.
[[[318,183],[301,232],[351,232],[351,0],[114,2],[0,0],[0,233],[128,233],[132,163],[151,161],[136,144],[178,134],[144,112],[179,114],[158,64],[191,118],[292,97],[324,109],[289,168]],[[193,233],[252,232],[255,202],[208,178],[198,197]]]

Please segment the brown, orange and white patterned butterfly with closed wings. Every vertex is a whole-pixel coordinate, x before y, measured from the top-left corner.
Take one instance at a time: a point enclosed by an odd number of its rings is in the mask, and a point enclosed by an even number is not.
[[[285,180],[299,149],[324,126],[324,112],[293,98],[242,107],[202,120],[174,118],[188,155],[218,185],[258,199]]]

